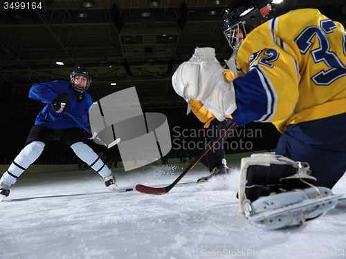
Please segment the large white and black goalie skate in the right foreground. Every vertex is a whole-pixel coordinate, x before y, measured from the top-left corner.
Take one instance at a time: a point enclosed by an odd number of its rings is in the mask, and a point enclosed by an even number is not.
[[[302,225],[334,209],[339,195],[316,187],[309,164],[273,154],[242,159],[239,207],[246,222],[259,229]]]

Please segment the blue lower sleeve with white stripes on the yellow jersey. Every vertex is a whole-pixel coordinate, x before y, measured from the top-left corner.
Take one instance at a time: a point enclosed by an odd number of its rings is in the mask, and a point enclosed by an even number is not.
[[[261,75],[260,75],[261,73]],[[238,126],[253,121],[264,122],[275,114],[276,93],[268,79],[258,69],[253,69],[233,80],[237,109],[232,113]]]

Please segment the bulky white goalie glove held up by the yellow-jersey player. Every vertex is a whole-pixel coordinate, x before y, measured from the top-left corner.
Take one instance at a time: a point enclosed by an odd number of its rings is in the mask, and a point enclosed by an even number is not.
[[[219,121],[235,111],[235,90],[224,72],[215,57],[214,48],[197,47],[191,59],[176,69],[172,85],[176,93],[188,102],[188,113],[191,110],[190,99],[202,102]]]

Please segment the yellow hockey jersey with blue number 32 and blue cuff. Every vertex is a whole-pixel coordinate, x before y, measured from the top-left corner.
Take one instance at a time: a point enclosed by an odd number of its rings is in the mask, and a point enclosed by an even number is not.
[[[233,80],[238,126],[289,124],[346,113],[346,32],[319,10],[263,23],[245,38]]]

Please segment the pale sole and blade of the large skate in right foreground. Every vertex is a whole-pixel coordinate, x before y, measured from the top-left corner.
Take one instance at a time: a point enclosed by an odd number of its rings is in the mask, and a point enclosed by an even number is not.
[[[338,204],[338,198],[341,197],[341,195],[335,195],[327,188],[320,187],[318,189],[320,189],[322,197],[310,198],[307,200],[302,200],[301,198],[298,200],[299,194],[301,195],[301,193],[298,192],[280,193],[279,195],[273,195],[272,197],[266,196],[261,198],[251,204],[254,213],[248,215],[246,221],[250,222],[257,228],[267,230],[303,224],[307,219],[316,218],[323,213],[334,209],[336,204]],[[309,188],[304,190],[304,193],[311,196],[313,191],[313,188]],[[297,198],[295,202],[293,201],[292,196]],[[287,201],[288,199],[290,201]],[[281,207],[277,207],[279,200],[284,200],[285,202]],[[290,204],[287,204],[287,202]],[[263,207],[266,211],[263,211]]]

